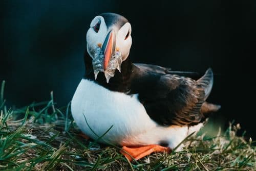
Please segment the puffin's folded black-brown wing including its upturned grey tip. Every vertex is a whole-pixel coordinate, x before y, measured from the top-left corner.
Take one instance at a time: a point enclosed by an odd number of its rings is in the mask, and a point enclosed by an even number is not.
[[[211,69],[195,81],[178,75],[163,74],[162,67],[156,66],[157,71],[154,72],[154,68],[136,66],[141,73],[137,84],[144,86],[139,90],[139,100],[153,120],[166,126],[201,121],[204,117],[201,107],[212,87]]]

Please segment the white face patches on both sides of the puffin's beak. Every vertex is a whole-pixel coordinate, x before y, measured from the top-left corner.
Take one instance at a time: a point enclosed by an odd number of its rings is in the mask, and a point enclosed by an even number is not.
[[[102,46],[106,35],[114,31],[116,34],[116,44],[115,51],[120,51],[122,53],[122,61],[124,61],[130,53],[130,48],[132,45],[132,27],[129,22],[126,22],[120,29],[115,25],[107,28],[104,18],[102,16],[96,16],[90,25],[90,29],[87,32],[87,51],[89,55],[94,58],[94,48],[96,45]]]

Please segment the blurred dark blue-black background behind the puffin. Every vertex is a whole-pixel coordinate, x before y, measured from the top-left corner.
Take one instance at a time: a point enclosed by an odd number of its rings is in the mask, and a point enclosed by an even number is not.
[[[9,107],[50,99],[65,106],[84,74],[90,21],[102,12],[132,25],[134,62],[174,70],[210,66],[215,83],[209,102],[221,104],[214,122],[235,119],[256,137],[255,1],[0,1],[0,80]],[[227,124],[226,124],[227,125]]]

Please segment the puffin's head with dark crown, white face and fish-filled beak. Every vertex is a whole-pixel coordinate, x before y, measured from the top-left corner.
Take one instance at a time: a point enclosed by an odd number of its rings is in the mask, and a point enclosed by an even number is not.
[[[104,72],[106,82],[114,77],[115,70],[121,72],[121,63],[130,53],[132,27],[123,16],[103,13],[91,22],[87,32],[87,52],[91,56],[95,80]]]

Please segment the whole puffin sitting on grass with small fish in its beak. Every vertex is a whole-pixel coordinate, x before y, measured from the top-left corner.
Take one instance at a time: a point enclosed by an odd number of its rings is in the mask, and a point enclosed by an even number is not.
[[[183,140],[221,107],[206,102],[212,69],[193,79],[192,72],[133,63],[131,33],[131,23],[119,14],[93,18],[86,36],[85,74],[71,101],[73,118],[88,137],[122,146],[129,160],[181,151]]]

